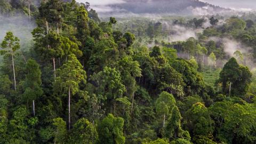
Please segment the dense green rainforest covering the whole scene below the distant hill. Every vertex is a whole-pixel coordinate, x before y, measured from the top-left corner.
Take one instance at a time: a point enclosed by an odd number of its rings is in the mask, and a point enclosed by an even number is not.
[[[4,15],[27,13],[23,1],[0,2]],[[172,42],[163,20],[120,24],[100,21],[89,3],[34,5],[31,49],[20,51],[12,31],[0,42],[0,143],[256,140],[254,15],[165,18],[202,29]],[[227,38],[241,51],[226,51]]]

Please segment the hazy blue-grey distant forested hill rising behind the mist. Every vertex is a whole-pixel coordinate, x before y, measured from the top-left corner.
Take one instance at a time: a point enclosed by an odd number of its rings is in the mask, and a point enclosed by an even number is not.
[[[169,13],[169,14],[195,14],[199,11],[220,12],[225,9],[198,0],[125,0],[121,4],[108,5],[115,11],[131,13]],[[197,9],[197,10],[195,10]]]

